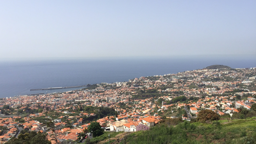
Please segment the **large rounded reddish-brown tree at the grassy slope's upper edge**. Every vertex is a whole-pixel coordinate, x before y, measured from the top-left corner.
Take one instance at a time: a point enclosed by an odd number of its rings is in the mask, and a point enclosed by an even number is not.
[[[212,110],[203,110],[203,111],[199,111],[197,120],[198,121],[219,120],[219,115]]]

